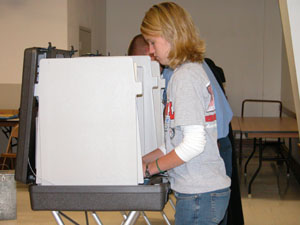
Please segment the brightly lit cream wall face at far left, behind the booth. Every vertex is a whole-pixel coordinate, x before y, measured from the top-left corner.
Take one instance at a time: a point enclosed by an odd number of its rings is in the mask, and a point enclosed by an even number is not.
[[[0,108],[19,108],[24,49],[67,48],[67,0],[0,1]]]

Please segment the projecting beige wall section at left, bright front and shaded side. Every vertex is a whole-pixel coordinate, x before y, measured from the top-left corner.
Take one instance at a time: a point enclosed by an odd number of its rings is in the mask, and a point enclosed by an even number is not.
[[[92,51],[106,52],[105,0],[1,0],[0,108],[18,108],[24,49],[79,47],[79,26],[92,31]]]

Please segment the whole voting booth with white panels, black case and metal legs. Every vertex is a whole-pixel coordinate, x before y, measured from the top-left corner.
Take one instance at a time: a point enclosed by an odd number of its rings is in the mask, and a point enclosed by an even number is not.
[[[25,50],[16,180],[33,210],[162,211],[169,184],[145,182],[142,155],[163,142],[159,65],[148,56]],[[96,222],[101,224],[100,221]]]

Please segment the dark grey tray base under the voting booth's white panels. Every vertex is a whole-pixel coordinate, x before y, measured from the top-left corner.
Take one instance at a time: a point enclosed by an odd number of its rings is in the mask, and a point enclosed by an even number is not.
[[[162,211],[169,184],[135,186],[29,187],[32,210],[47,211]]]

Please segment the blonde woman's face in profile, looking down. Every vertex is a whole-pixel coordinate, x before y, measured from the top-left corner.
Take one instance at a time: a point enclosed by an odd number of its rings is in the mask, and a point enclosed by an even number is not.
[[[153,54],[160,64],[167,66],[171,44],[161,36],[144,35],[144,38],[149,43],[149,54]]]

